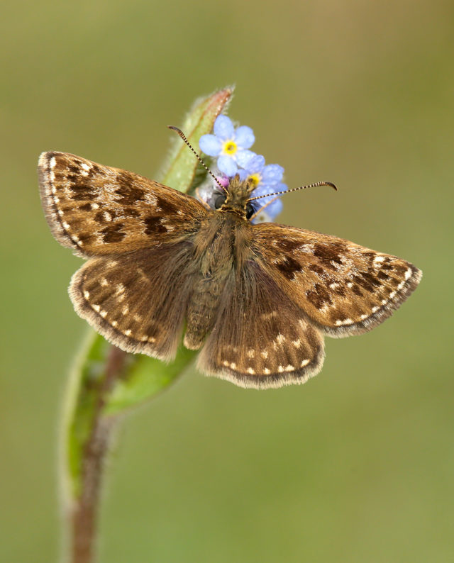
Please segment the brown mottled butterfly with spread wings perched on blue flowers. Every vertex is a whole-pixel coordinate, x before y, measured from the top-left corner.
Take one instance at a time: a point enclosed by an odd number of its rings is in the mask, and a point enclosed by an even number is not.
[[[304,383],[322,367],[324,335],[371,330],[421,279],[348,240],[253,225],[254,186],[238,177],[211,209],[66,152],[43,152],[38,172],[52,234],[88,259],[69,289],[79,316],[121,349],[167,361],[184,333],[201,372],[239,386]]]

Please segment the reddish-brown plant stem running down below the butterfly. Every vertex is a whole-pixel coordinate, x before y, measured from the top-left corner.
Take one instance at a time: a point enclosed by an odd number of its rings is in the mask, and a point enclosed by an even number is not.
[[[106,372],[99,399],[96,403],[94,420],[84,450],[82,479],[79,496],[70,507],[70,549],[71,563],[92,563],[94,561],[97,513],[104,469],[104,459],[109,450],[112,430],[118,417],[103,416],[106,395],[123,369],[126,352],[111,346],[106,363]]]

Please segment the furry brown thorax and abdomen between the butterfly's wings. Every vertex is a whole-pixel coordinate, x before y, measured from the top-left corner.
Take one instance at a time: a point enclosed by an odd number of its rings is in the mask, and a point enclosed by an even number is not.
[[[201,222],[194,244],[194,285],[184,345],[198,350],[214,326],[223,291],[248,259],[252,227],[234,210],[216,210]]]

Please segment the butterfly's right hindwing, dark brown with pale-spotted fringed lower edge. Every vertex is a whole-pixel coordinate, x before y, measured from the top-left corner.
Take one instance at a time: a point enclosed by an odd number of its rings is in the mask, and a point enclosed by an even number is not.
[[[323,364],[323,337],[256,262],[226,282],[202,372],[251,388],[304,383]]]

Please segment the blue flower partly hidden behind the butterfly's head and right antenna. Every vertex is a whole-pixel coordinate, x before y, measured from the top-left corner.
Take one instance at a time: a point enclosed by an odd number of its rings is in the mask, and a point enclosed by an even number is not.
[[[240,179],[252,180],[255,184],[251,197],[265,196],[287,190],[287,186],[282,184],[284,169],[279,165],[266,165],[265,157],[255,155],[250,159],[243,170],[239,170]],[[264,223],[274,221],[275,217],[282,211],[282,201],[279,196],[263,197],[252,202],[257,216],[253,218],[253,223]]]

